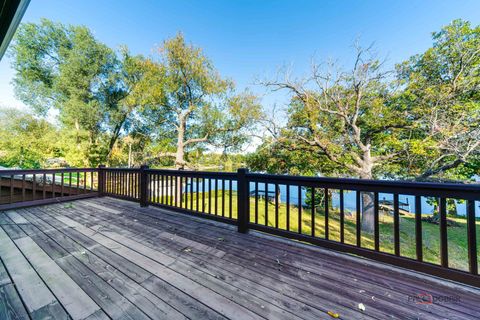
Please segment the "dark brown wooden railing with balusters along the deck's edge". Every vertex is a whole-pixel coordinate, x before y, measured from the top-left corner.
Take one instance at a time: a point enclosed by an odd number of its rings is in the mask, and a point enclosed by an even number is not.
[[[146,166],[9,170],[0,176],[2,210],[108,195],[480,287],[479,185]]]

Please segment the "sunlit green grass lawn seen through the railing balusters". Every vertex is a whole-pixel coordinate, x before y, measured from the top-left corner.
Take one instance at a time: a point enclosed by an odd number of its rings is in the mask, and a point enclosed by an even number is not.
[[[198,196],[198,207],[197,207]],[[190,207],[191,194],[182,200],[182,207],[185,207],[185,200],[187,200],[187,209],[194,211],[202,211],[202,193],[193,194],[193,208]],[[209,196],[208,192],[205,192],[205,213],[215,213],[215,203],[217,205],[217,215],[222,215],[222,191],[219,190],[217,197],[214,192]],[[163,197],[163,201],[170,200],[171,197]],[[161,199],[156,199],[161,200]],[[228,190],[225,191],[225,216],[229,216],[229,201],[230,194]],[[209,210],[210,206],[210,210]],[[275,217],[275,205],[268,202],[268,219],[265,223],[265,200],[258,200],[258,223],[275,227],[277,224]],[[302,208],[301,219],[301,233],[310,235],[312,233],[312,227],[315,228],[315,236],[325,237],[325,215],[323,208],[316,208],[315,213],[315,225],[312,225],[311,208]],[[287,206],[284,203],[279,204],[278,208],[278,228],[286,230],[287,224]],[[232,218],[237,218],[237,194],[234,191],[232,193]],[[463,217],[451,217],[448,219],[455,220],[458,226],[447,227],[448,234],[448,255],[449,266],[451,268],[468,270],[468,251],[467,251],[467,224],[466,219]],[[255,198],[250,197],[250,221],[255,222]],[[345,243],[355,245],[356,244],[356,212],[349,212],[345,214]],[[393,234],[393,217],[388,214],[381,214],[380,216],[380,251],[386,253],[394,253],[394,234]],[[298,232],[298,208],[296,206],[290,206],[290,231]],[[423,259],[424,261],[434,264],[440,264],[440,229],[438,225],[422,222],[422,238],[423,238]],[[477,219],[477,235],[480,235],[480,221]],[[333,241],[340,241],[340,215],[338,208],[331,208],[329,210],[329,239]],[[477,239],[477,242],[480,239]],[[374,239],[373,234],[362,232],[361,234],[362,247],[373,249]],[[477,245],[480,250],[480,243]],[[413,214],[404,214],[400,216],[400,254],[408,258],[416,258],[415,247],[415,217]],[[478,254],[480,257],[480,252]]]

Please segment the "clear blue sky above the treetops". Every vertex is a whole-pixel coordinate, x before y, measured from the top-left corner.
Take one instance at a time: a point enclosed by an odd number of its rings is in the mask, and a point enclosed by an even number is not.
[[[313,56],[348,66],[359,38],[400,62],[431,45],[431,32],[456,18],[480,24],[480,1],[126,1],[32,0],[23,21],[41,17],[83,24],[107,45],[128,45],[149,55],[177,32],[201,46],[220,73],[240,89],[273,76],[282,65],[306,72]],[[0,106],[22,107],[14,98],[10,61],[0,62]],[[284,102],[263,96],[269,106]]]

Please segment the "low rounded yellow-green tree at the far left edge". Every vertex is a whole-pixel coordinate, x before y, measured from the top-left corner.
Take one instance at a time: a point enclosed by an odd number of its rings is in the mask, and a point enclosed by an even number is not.
[[[0,109],[0,165],[41,168],[62,155],[58,131],[45,120],[17,109]]]

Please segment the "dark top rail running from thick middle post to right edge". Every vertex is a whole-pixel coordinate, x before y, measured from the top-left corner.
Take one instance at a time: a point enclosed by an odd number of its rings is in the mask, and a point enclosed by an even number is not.
[[[247,173],[247,178],[250,181],[256,182],[301,185],[307,187],[325,187],[332,189],[480,200],[480,184],[323,178],[262,173]]]

